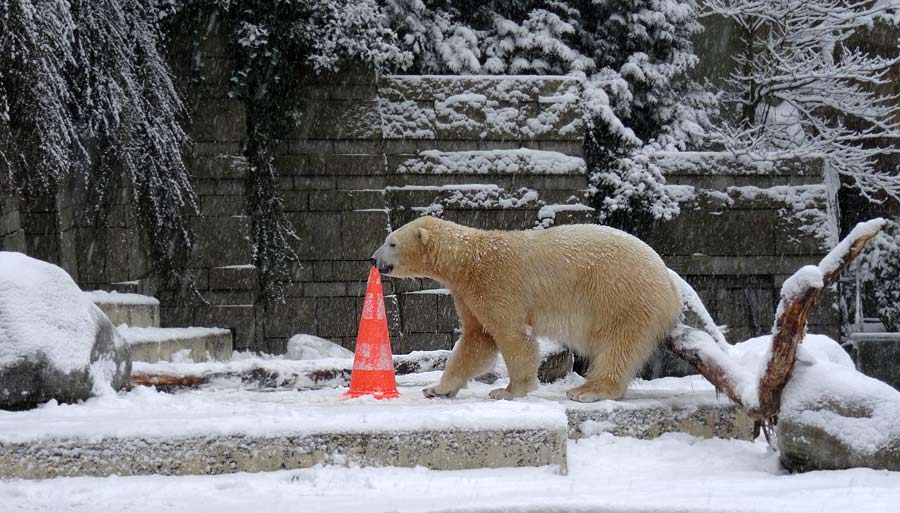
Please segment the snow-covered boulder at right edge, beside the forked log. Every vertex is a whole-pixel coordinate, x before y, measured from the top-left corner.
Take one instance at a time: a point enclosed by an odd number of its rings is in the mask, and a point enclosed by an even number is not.
[[[782,465],[900,470],[900,392],[857,371],[831,344],[827,354],[798,352],[778,418]]]

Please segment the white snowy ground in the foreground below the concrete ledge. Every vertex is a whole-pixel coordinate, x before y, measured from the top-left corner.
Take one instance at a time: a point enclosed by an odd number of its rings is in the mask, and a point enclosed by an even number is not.
[[[320,466],[259,474],[0,482],[4,512],[853,512],[900,511],[900,473],[784,475],[761,442],[602,434],[554,468],[431,471]]]

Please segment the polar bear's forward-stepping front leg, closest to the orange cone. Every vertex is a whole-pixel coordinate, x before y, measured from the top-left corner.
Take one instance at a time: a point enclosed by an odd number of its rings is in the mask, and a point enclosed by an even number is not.
[[[481,323],[457,302],[457,312],[463,323],[463,334],[453,348],[453,354],[437,385],[422,390],[425,397],[455,397],[459,389],[470,379],[494,366],[497,359],[497,343],[484,330]]]

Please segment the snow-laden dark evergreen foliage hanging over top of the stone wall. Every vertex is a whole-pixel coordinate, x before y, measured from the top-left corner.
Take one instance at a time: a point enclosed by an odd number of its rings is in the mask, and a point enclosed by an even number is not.
[[[713,103],[688,77],[694,0],[386,0],[386,11],[413,72],[583,77],[600,220],[677,213],[652,153],[696,144]]]

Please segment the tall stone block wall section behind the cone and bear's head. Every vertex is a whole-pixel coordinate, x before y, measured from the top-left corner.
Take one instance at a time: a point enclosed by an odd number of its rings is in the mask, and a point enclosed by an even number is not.
[[[234,122],[242,109],[224,94],[198,99],[192,170],[203,215],[193,266],[209,304],[157,290],[163,324],[231,327],[238,348],[282,352],[296,333],[352,348],[369,258],[393,227],[425,213],[508,229],[587,221],[590,209],[577,205],[586,186],[580,87],[366,72],[306,83],[298,128],[276,161],[300,261],[285,304],[269,310],[250,265],[244,134]],[[395,351],[452,347],[452,299],[437,284],[385,286]]]

